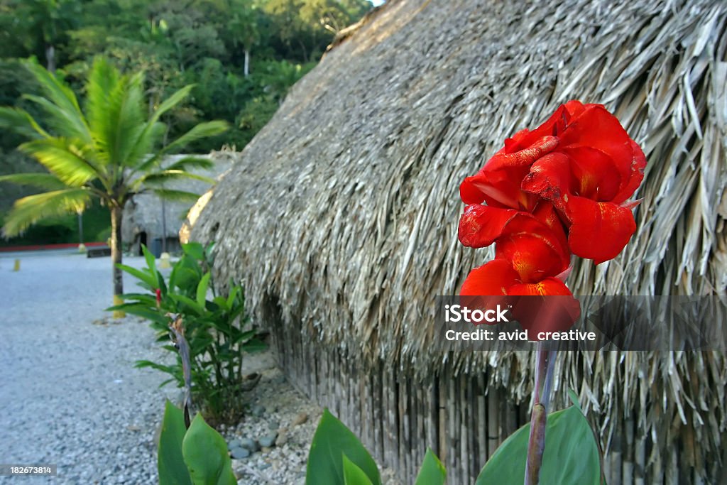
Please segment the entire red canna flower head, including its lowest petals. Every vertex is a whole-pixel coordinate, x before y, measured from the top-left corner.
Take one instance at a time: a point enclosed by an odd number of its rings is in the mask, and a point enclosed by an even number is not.
[[[495,244],[495,259],[470,271],[459,294],[519,295],[510,307],[523,328],[567,329],[580,313],[563,283],[571,252],[598,264],[622,251],[636,229],[635,203],[626,201],[644,167],[641,149],[602,105],[569,101],[505,140],[459,187],[467,204],[459,241]]]

